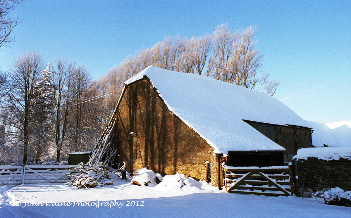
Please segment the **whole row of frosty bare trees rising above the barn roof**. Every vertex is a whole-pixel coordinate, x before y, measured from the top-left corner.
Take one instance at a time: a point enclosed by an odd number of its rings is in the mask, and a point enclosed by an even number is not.
[[[257,30],[257,26],[249,26],[232,32],[229,25],[223,23],[216,27],[213,35],[193,36],[190,40],[179,35],[165,36],[151,49],[128,55],[120,66],[115,67],[115,75],[126,80],[153,65],[204,74],[249,89],[261,90],[264,87],[268,94],[273,95],[279,81],[270,81],[269,74],[260,71],[263,54],[255,49]]]

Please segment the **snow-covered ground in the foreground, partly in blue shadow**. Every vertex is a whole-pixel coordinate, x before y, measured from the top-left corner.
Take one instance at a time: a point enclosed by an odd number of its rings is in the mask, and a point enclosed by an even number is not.
[[[65,184],[0,186],[0,217],[351,217],[350,207],[326,205],[321,198],[233,194],[204,182],[182,188],[160,184],[118,180],[85,190]]]

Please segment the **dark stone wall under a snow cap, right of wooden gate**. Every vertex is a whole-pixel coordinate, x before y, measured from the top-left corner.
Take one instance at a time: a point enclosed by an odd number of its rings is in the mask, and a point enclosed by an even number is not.
[[[351,160],[322,160],[309,157],[307,160],[298,159],[297,169],[299,187],[304,186],[304,197],[311,193],[339,187],[351,191]]]

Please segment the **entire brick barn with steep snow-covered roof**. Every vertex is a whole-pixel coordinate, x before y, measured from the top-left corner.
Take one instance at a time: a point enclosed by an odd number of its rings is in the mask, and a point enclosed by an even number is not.
[[[275,98],[154,66],[125,82],[111,120],[128,171],[204,179],[209,161],[214,185],[223,156],[231,166],[283,165],[312,146],[312,129]]]

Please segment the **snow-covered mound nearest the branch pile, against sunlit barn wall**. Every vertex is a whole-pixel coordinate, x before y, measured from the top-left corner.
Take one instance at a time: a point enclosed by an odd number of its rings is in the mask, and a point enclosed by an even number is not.
[[[157,185],[157,183],[159,183],[159,181],[163,180],[160,173],[155,173],[147,168],[137,170],[134,175],[135,176],[132,178],[132,183],[139,186],[154,187]]]

